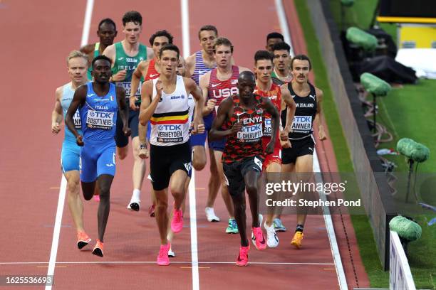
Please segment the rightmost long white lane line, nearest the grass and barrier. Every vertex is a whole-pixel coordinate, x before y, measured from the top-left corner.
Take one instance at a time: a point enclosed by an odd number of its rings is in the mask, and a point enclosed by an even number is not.
[[[284,12],[282,0],[275,0],[277,16],[279,16],[279,23],[281,28],[281,33],[284,36],[284,40],[291,46],[291,55],[294,55],[294,48],[292,47],[291,33],[289,33],[289,23],[286,20],[286,14]],[[313,152],[313,172],[320,172],[320,166],[318,161],[318,156],[316,150]],[[316,182],[322,182],[321,174],[317,174]],[[321,199],[326,200],[326,195],[319,193]],[[333,227],[333,221],[331,220],[330,210],[328,207],[323,207],[324,222],[326,222],[328,240],[330,242],[331,252],[333,255],[333,261],[336,265],[336,274],[338,276],[339,286],[342,289],[348,289],[345,272],[343,271],[341,254],[339,253],[338,243],[336,242],[335,230]]]

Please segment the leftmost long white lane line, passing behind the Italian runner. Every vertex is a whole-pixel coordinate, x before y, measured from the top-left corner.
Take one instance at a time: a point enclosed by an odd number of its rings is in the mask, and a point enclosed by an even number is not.
[[[83,20],[83,31],[81,46],[88,43],[90,22],[93,16],[94,0],[86,1],[85,18]],[[56,256],[58,254],[59,235],[61,234],[61,222],[63,215],[63,205],[66,197],[66,178],[62,175],[61,188],[59,189],[58,208],[56,210],[55,227],[53,230],[53,239],[51,240],[50,260],[48,262],[47,276],[54,274],[56,265]],[[46,290],[51,290],[51,285],[46,285]]]

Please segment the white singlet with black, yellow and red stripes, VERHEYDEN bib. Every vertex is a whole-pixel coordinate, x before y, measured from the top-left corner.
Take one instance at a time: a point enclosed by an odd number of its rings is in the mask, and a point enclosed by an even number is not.
[[[155,96],[157,79],[152,82],[152,96]],[[183,144],[190,139],[188,96],[183,77],[177,75],[174,92],[166,94],[162,91],[162,97],[150,118],[150,123],[150,144],[152,145],[173,146]]]

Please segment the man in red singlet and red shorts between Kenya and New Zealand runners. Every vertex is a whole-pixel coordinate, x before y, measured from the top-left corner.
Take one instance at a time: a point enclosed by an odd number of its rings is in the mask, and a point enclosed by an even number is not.
[[[281,108],[288,107],[286,116],[286,125],[284,130],[281,131],[281,136],[284,141],[289,142],[288,134],[291,131],[292,119],[294,119],[295,102],[292,100],[291,93],[288,89],[282,89],[278,85],[275,85],[271,80],[271,72],[274,68],[273,55],[266,50],[259,50],[254,55],[254,73],[256,73],[256,88],[254,93],[261,97],[268,97],[274,104],[278,112],[281,112]],[[262,145],[264,150],[267,144],[271,141],[271,119],[269,116],[264,120],[264,136],[262,137]],[[290,144],[284,145],[289,147]],[[271,178],[268,182],[280,183],[279,174],[281,172],[281,158],[280,158],[281,144],[279,140],[279,134],[276,134],[276,145],[274,146],[274,152],[266,155],[263,164],[263,170],[271,174],[268,177]],[[264,222],[266,230],[266,244],[268,247],[277,247],[279,245],[279,237],[276,235],[276,230],[273,225],[274,209],[271,209],[270,213]]]

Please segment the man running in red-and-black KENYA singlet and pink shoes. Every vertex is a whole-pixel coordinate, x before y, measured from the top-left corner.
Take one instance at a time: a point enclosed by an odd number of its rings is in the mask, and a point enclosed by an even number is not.
[[[239,94],[227,97],[219,104],[217,118],[214,119],[209,137],[227,137],[222,159],[224,178],[234,205],[241,237],[237,258],[238,266],[248,264],[249,241],[246,237],[245,194],[249,195],[252,217],[251,240],[256,249],[266,248],[264,234],[259,222],[259,178],[264,154],[274,151],[276,134],[279,131],[279,112],[266,97],[254,95],[256,79],[254,74],[244,71],[239,75],[237,89]],[[271,116],[271,140],[264,151],[262,133],[265,113]],[[222,130],[226,124],[226,130]]]

